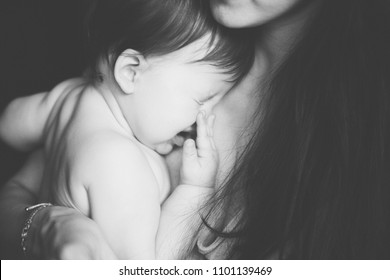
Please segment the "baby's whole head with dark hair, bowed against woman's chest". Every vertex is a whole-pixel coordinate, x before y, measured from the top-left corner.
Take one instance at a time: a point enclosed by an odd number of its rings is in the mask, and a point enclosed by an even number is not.
[[[219,26],[208,2],[97,0],[87,18],[92,77],[112,84],[135,137],[162,154],[253,62],[249,31]]]

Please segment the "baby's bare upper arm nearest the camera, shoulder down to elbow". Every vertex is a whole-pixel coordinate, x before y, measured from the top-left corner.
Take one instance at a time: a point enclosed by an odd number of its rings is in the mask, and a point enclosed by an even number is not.
[[[139,148],[128,138],[99,135],[78,164],[91,218],[119,259],[154,259],[160,218],[157,181]],[[88,168],[87,170],[85,168]],[[85,179],[84,179],[85,180]]]

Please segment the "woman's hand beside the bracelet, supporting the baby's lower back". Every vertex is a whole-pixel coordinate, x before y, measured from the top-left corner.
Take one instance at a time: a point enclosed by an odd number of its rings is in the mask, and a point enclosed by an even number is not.
[[[27,249],[39,259],[116,259],[93,220],[60,206],[46,207],[36,214]]]

